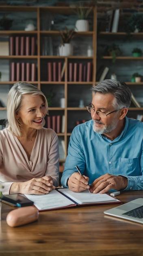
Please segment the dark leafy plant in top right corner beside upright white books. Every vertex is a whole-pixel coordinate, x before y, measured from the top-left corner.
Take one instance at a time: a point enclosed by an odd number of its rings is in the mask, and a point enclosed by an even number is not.
[[[132,32],[143,32],[143,14],[134,13],[126,21],[124,30],[130,34]]]

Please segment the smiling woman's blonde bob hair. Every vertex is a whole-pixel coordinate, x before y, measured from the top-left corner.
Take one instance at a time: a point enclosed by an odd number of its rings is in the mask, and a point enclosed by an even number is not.
[[[48,102],[41,90],[39,90],[36,86],[30,83],[15,83],[8,93],[7,121],[10,132],[18,137],[21,136],[20,126],[22,124],[20,124],[20,121],[17,120],[17,113],[20,111],[22,106],[23,94],[41,95],[45,103],[46,114],[48,115]]]

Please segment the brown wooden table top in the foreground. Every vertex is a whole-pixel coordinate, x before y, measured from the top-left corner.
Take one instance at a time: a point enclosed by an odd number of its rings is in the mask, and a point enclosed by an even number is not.
[[[123,203],[141,197],[143,191],[117,196]],[[6,215],[13,207],[2,203],[0,256],[143,256],[143,225],[104,214],[118,205],[43,211],[37,222],[12,228]]]

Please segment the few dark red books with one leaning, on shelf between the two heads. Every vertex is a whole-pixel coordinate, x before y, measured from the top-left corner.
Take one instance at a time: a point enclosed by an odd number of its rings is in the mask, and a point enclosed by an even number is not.
[[[65,73],[65,63],[63,64],[61,62],[48,62],[47,63],[47,69],[48,69],[48,81],[49,82],[61,82]]]

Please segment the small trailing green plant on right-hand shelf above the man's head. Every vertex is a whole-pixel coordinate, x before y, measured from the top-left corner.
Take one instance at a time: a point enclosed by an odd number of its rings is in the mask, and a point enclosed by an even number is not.
[[[106,45],[105,50],[104,50],[104,55],[112,56],[113,63],[115,63],[116,56],[119,54],[121,54],[119,45],[116,45],[115,43],[113,43],[112,45]]]

